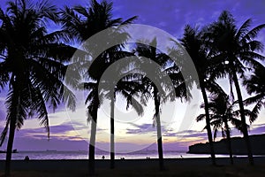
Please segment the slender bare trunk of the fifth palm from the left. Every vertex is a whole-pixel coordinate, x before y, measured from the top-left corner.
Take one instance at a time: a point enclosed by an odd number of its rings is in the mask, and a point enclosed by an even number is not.
[[[210,118],[209,118],[209,112],[208,112],[208,97],[206,94],[206,89],[204,87],[204,83],[201,84],[201,93],[204,101],[204,110],[205,110],[205,116],[206,116],[206,129],[207,129],[207,134],[208,134],[208,143],[210,147],[210,154],[212,158],[212,165],[216,165],[216,153],[214,149],[214,142],[213,142],[213,135],[210,127]]]

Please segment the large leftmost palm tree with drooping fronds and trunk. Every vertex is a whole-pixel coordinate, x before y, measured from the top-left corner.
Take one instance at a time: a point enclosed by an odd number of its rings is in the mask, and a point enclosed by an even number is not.
[[[33,4],[26,0],[8,2],[6,12],[0,9],[0,85],[8,89],[1,145],[9,133],[5,161],[7,176],[11,170],[15,130],[23,126],[24,120],[40,119],[49,137],[46,104],[55,110],[62,101],[68,101],[67,105],[72,110],[75,108],[75,97],[64,85],[64,62],[69,61],[73,50],[57,41],[63,36],[61,32],[48,34],[43,22],[57,21],[56,9],[46,1]],[[65,91],[67,94],[64,95]]]

